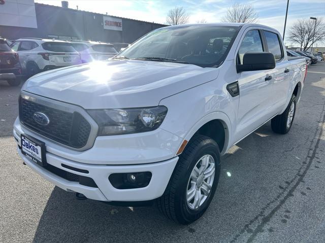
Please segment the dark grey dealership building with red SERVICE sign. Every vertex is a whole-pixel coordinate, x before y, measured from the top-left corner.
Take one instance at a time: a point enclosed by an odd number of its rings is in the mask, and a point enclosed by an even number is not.
[[[0,36],[7,39],[39,37],[133,43],[166,25],[34,3],[2,0]]]

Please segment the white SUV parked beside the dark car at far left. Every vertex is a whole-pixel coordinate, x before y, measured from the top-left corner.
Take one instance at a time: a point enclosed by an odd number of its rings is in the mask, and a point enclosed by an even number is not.
[[[18,52],[22,71],[28,76],[58,67],[81,64],[80,54],[66,41],[20,38],[11,48]]]

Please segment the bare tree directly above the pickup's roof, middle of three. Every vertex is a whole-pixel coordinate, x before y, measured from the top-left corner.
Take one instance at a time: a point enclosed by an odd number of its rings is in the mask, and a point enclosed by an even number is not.
[[[230,23],[256,23],[258,14],[251,4],[234,4],[221,19]]]

